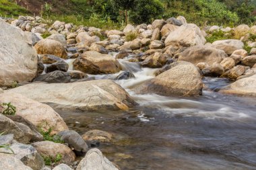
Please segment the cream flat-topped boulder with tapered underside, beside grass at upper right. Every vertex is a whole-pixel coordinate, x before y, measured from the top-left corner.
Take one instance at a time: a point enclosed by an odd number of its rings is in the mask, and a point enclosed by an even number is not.
[[[217,40],[212,43],[212,46],[224,50],[226,54],[230,55],[235,50],[243,49],[244,43],[241,40]]]

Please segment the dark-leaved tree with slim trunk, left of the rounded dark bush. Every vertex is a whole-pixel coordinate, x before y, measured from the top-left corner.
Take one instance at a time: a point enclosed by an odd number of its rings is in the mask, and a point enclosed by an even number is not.
[[[135,0],[112,0],[117,9],[125,11],[125,22],[128,24],[128,11],[133,8]]]

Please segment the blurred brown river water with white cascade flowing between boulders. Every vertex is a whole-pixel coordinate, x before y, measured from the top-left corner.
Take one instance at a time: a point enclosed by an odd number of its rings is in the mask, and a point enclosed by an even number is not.
[[[256,169],[256,99],[218,93],[226,79],[205,78],[200,97],[137,95],[156,69],[119,60],[135,79],[116,81],[139,103],[129,111],[57,110],[70,129],[116,134],[100,150],[121,169]],[[113,79],[115,75],[90,75]]]

